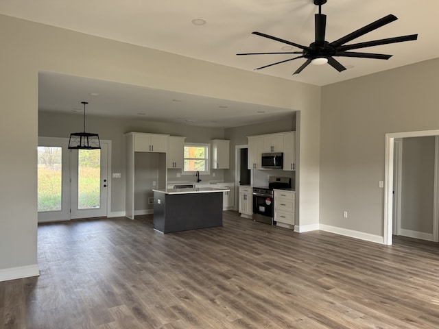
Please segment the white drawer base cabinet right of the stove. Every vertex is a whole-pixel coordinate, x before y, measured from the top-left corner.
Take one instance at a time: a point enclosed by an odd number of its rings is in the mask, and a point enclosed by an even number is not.
[[[294,229],[296,192],[274,190],[274,221],[277,226]]]

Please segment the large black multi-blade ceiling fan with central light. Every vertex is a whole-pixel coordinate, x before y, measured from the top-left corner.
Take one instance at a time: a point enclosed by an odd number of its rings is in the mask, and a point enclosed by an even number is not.
[[[379,46],[379,45],[387,45],[390,43],[396,42],[404,42],[410,40],[416,40],[418,38],[418,34],[411,34],[410,36],[396,36],[394,38],[386,38],[380,40],[373,40],[367,42],[359,42],[351,45],[345,45],[346,42],[354,40],[355,38],[359,38],[364,34],[372,32],[374,29],[378,29],[388,23],[392,23],[398,19],[396,16],[390,14],[388,16],[379,19],[373,23],[370,23],[361,29],[357,29],[357,31],[347,34],[346,36],[335,40],[333,42],[327,42],[324,40],[324,34],[326,32],[327,25],[327,15],[322,14],[322,5],[327,3],[327,0],[313,0],[315,5],[318,5],[318,14],[314,15],[314,23],[315,23],[315,35],[316,40],[307,46],[298,45],[297,43],[284,40],[281,38],[276,38],[275,36],[270,36],[268,34],[264,34],[261,32],[252,32],[252,34],[256,34],[257,36],[263,36],[264,38],[269,38],[278,42],[283,42],[287,45],[291,45],[302,49],[302,51],[287,51],[287,52],[272,52],[272,53],[237,53],[237,55],[270,55],[270,54],[282,54],[282,53],[296,53],[301,54],[301,56],[297,56],[294,58],[289,58],[288,60],[281,60],[281,62],[276,62],[272,64],[268,64],[265,66],[258,67],[257,70],[265,69],[266,67],[273,66],[276,64],[281,64],[285,62],[289,62],[291,60],[297,60],[298,58],[306,58],[307,61],[303,63],[293,74],[300,73],[305,67],[309,64],[329,64],[333,66],[339,72],[346,70],[340,62],[335,60],[334,57],[356,57],[356,58],[374,58],[377,60],[388,60],[392,57],[392,55],[385,55],[382,53],[360,53],[354,51],[348,51],[352,49],[359,49],[365,47]]]

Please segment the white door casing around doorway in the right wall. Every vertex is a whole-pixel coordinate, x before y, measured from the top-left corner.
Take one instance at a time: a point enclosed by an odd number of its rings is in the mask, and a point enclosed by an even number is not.
[[[385,160],[384,160],[384,230],[383,243],[392,245],[393,233],[393,171],[394,171],[394,145],[396,138],[436,136],[435,178],[434,178],[434,214],[433,236],[434,241],[439,239],[439,130],[421,130],[416,132],[392,132],[385,134]]]

